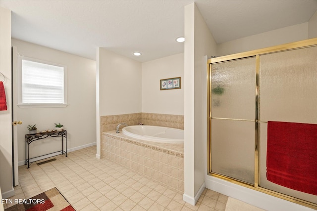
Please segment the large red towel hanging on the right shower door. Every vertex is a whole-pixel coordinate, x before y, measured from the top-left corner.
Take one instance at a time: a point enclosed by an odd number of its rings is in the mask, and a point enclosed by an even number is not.
[[[317,195],[317,125],[267,123],[267,180]]]

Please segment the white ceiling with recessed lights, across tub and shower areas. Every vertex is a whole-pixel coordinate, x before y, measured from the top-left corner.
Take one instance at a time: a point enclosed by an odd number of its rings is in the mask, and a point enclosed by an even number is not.
[[[184,52],[184,6],[196,2],[217,43],[307,22],[317,0],[0,0],[12,37],[90,59],[96,48],[145,62]],[[135,57],[134,51],[142,52]]]

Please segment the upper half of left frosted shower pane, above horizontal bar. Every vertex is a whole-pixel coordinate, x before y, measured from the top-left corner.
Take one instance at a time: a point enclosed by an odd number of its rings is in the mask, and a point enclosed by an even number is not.
[[[255,120],[256,58],[211,65],[211,116]]]

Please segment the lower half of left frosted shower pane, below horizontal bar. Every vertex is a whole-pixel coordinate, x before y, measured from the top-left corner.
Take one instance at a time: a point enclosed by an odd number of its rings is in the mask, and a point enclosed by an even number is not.
[[[211,171],[254,184],[255,123],[211,120]]]

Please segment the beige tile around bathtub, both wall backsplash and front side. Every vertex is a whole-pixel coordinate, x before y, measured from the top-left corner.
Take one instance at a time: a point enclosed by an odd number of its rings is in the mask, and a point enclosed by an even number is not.
[[[137,144],[104,132],[119,123],[184,129],[183,115],[133,113],[101,116],[102,156],[151,178],[172,190],[184,192],[184,145],[171,153],[165,146]],[[121,134],[121,133],[120,133]],[[175,153],[177,152],[177,153]]]

